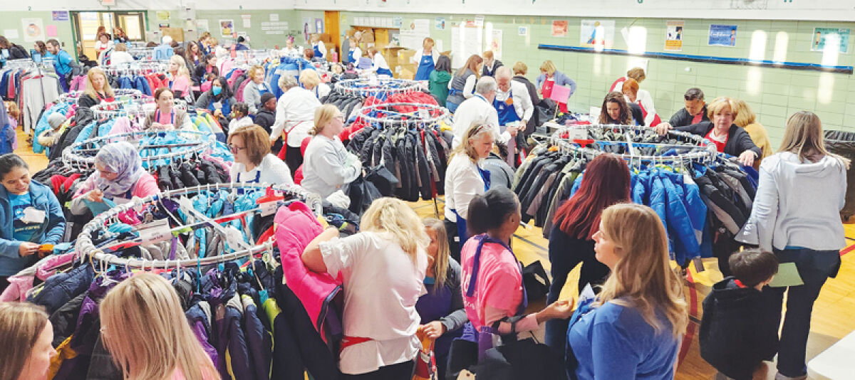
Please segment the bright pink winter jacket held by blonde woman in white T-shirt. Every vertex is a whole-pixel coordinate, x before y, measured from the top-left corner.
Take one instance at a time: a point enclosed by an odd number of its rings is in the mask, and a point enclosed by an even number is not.
[[[341,290],[341,280],[329,273],[310,271],[300,256],[312,239],[321,234],[323,227],[303,202],[279,208],[274,226],[286,284],[303,303],[312,324],[320,332],[326,318],[325,305]]]

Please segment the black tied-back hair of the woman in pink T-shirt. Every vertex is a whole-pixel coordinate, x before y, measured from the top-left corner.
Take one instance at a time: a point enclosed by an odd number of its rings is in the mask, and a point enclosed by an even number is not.
[[[469,201],[469,219],[466,224],[471,235],[501,227],[508,215],[519,212],[520,202],[513,191],[497,187]]]

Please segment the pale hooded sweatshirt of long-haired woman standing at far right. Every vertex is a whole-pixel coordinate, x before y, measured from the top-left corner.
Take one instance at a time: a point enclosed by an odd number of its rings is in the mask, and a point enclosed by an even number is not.
[[[751,217],[736,240],[765,251],[787,246],[846,247],[840,209],[846,203],[846,167],[833,156],[802,162],[781,152],[763,159]]]

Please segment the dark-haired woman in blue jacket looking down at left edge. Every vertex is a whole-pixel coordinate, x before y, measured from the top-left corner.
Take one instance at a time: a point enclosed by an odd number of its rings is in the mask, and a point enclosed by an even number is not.
[[[0,292],[7,278],[32,266],[42,244],[60,243],[65,217],[53,191],[30,179],[27,162],[0,155]],[[47,254],[53,252],[45,250]]]

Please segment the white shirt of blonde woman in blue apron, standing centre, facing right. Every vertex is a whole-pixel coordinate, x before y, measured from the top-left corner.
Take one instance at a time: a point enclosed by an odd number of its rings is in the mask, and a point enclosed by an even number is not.
[[[445,219],[457,223],[457,211],[463,219],[469,219],[469,202],[477,195],[483,195],[484,178],[469,155],[458,153],[451,157],[445,170]]]

